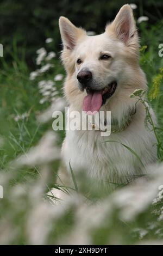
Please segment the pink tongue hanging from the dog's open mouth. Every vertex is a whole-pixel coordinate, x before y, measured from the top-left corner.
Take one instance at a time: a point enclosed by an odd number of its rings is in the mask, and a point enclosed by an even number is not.
[[[99,111],[102,105],[102,101],[102,91],[89,93],[83,100],[83,110],[85,112],[91,111],[92,113]]]

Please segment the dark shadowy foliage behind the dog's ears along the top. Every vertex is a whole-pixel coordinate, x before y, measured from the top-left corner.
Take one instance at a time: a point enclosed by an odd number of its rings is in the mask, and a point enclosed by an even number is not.
[[[54,51],[61,50],[58,29],[58,19],[60,16],[68,17],[76,26],[82,26],[87,31],[102,33],[106,23],[112,21],[117,10],[126,3],[130,4],[133,1],[1,0],[1,43],[5,48],[5,56],[12,60],[10,56],[12,41],[16,39],[18,54],[21,54],[22,46],[26,47],[26,60],[33,67],[35,51],[37,48],[45,46],[43,44],[46,38],[54,38]],[[148,23],[150,24],[156,23],[161,19],[163,11],[161,0],[135,0],[134,3],[138,5],[138,8],[134,10],[136,17],[147,15],[149,17]],[[153,15],[154,11],[156,15]],[[149,39],[150,43],[151,39],[152,34]],[[154,44],[155,40],[152,41]]]

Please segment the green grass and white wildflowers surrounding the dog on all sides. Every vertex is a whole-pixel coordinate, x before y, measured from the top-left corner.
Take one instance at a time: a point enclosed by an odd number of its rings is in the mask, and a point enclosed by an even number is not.
[[[1,244],[162,243],[162,200],[157,197],[158,187],[163,185],[161,163],[151,167],[156,174],[148,181],[121,190],[118,186],[111,194],[95,188],[88,197],[87,187],[93,182],[84,175],[79,192],[75,186],[59,187],[55,182],[64,132],[52,132],[51,117],[65,103],[61,98],[65,72],[59,60],[58,18],[67,16],[75,25],[99,33],[125,3],[1,1]],[[158,55],[158,46],[163,43],[163,3],[134,3],[141,36],[140,64],[147,75],[148,101],[158,117],[162,143],[163,57]],[[148,21],[139,23],[140,16],[147,16]],[[52,187],[66,192],[65,202],[56,205],[57,195],[48,193]]]

